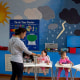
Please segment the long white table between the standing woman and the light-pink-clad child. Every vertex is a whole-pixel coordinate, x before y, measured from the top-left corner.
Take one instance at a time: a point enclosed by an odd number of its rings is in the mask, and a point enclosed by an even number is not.
[[[53,80],[53,67],[52,67],[52,62],[49,63],[49,65],[47,63],[40,63],[40,64],[34,64],[34,63],[24,63],[24,67],[33,67],[33,68],[39,68],[39,67],[49,67],[51,68],[51,77]],[[35,75],[35,80],[37,80],[37,71],[34,71],[34,75]]]

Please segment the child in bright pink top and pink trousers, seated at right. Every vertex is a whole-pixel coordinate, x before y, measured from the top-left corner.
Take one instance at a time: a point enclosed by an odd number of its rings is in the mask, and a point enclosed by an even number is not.
[[[69,64],[69,63],[73,65],[73,63],[67,58],[66,52],[65,51],[61,52],[61,59],[59,61],[59,64],[63,65],[63,64]],[[59,68],[57,80],[59,80],[62,70],[63,68]],[[68,68],[64,68],[64,70],[65,70],[66,80],[68,80]]]

